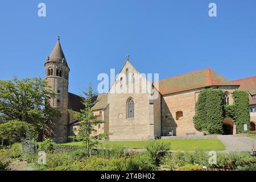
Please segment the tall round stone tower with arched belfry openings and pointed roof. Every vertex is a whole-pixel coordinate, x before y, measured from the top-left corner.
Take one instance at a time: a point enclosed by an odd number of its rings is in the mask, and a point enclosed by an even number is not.
[[[56,143],[67,142],[68,140],[68,77],[69,67],[60,45],[60,37],[53,48],[51,55],[47,56],[46,81],[50,88],[56,93],[50,101],[53,108],[59,109],[61,118],[55,119],[50,126],[46,127],[46,137],[53,139]]]

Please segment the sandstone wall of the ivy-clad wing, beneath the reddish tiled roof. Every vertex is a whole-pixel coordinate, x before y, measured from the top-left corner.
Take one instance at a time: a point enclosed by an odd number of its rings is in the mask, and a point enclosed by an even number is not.
[[[220,86],[229,93],[229,104],[233,104],[232,93],[237,86]],[[162,96],[162,135],[174,131],[175,136],[183,136],[188,133],[203,135],[197,131],[193,124],[195,116],[196,101],[202,89],[187,90]]]

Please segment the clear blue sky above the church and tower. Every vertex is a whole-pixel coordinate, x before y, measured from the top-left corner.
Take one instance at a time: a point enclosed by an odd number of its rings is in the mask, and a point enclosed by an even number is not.
[[[47,16],[38,16],[46,3]],[[217,17],[209,17],[209,3]],[[117,71],[131,55],[142,73],[160,79],[204,68],[230,80],[255,76],[254,0],[1,1],[1,80],[44,78],[46,56],[61,37],[71,72],[69,92],[79,94],[99,73]]]

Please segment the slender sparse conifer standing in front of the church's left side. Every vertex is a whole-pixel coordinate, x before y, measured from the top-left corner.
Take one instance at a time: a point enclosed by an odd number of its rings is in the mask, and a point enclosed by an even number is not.
[[[95,99],[96,93],[93,93],[91,83],[89,84],[88,92],[83,92],[83,94],[85,95],[85,97],[82,97],[82,104],[84,105],[84,109],[81,109],[79,112],[68,110],[69,113],[73,114],[73,117],[77,121],[82,121],[77,129],[78,134],[70,138],[81,140],[88,156],[90,156],[93,148],[98,146],[98,140],[104,139],[108,134],[98,134],[94,136],[91,135],[93,131],[97,131],[94,129],[94,126],[105,122],[98,119],[100,115],[93,114],[92,107],[98,102],[98,100]]]

